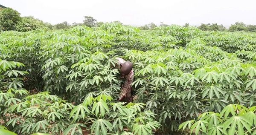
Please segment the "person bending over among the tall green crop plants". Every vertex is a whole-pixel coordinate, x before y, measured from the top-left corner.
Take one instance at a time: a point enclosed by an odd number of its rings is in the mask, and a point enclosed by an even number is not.
[[[118,101],[126,100],[126,102],[132,102],[131,95],[131,83],[133,82],[134,72],[132,70],[133,64],[129,61],[125,61],[120,57],[116,58],[119,64],[116,64],[116,68],[120,69],[121,78],[125,79],[124,84],[122,84],[122,89],[120,92],[120,98]]]

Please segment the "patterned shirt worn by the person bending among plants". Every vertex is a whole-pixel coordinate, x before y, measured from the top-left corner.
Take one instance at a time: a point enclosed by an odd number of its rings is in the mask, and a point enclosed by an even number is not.
[[[123,60],[120,57],[116,58],[118,60],[119,64],[116,64],[116,68],[121,68],[122,64],[125,63],[125,60]],[[131,83],[133,82],[134,78],[134,72],[131,70],[131,72],[128,75],[122,76],[121,78],[125,79],[125,83],[122,85],[121,93],[120,95],[123,95],[126,97],[128,92],[131,92]]]

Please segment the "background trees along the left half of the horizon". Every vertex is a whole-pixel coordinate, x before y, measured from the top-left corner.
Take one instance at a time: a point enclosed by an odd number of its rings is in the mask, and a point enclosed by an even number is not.
[[[114,21],[120,23],[119,21]],[[101,26],[103,22],[97,22],[93,17],[85,16],[83,23],[69,24],[67,21],[52,25],[33,16],[20,17],[20,13],[12,8],[5,8],[0,11],[0,31],[27,32],[35,29],[69,29],[75,26]]]

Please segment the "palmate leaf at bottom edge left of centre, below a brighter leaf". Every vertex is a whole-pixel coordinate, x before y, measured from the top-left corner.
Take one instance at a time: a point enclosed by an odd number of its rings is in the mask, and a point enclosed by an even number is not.
[[[94,132],[94,135],[99,135],[102,133],[103,135],[107,135],[107,130],[112,131],[112,124],[105,119],[98,119],[93,122],[91,133]]]

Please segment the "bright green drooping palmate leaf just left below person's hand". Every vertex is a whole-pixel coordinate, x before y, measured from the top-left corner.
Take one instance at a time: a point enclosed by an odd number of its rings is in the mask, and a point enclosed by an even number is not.
[[[95,112],[95,114],[98,115],[99,111],[100,111],[101,117],[104,117],[105,112],[109,111],[107,103],[102,99],[100,99],[99,102],[93,103],[92,112]]]

